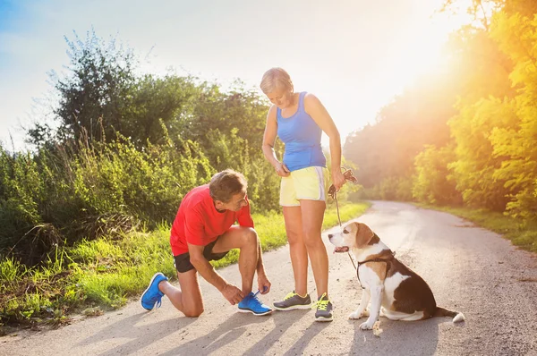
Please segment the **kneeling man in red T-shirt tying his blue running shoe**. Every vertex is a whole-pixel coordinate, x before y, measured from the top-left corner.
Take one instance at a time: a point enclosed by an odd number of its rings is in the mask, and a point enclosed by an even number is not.
[[[270,291],[265,274],[261,246],[246,197],[247,182],[243,174],[226,169],[215,174],[209,184],[186,194],[175,216],[170,244],[180,289],[167,282],[162,273],[153,275],[148,289],[141,296],[141,306],[151,310],[160,307],[166,295],[176,309],[186,317],[197,318],[203,312],[198,273],[214,285],[239,311],[254,315],[272,312],[251,292],[253,275],[257,271],[259,291]],[[234,225],[237,221],[239,225]],[[232,249],[239,249],[241,289],[228,283],[209,264],[222,259]]]

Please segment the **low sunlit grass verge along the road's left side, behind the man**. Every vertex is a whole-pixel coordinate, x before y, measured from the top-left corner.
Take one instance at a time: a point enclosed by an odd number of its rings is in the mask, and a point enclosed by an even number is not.
[[[369,207],[369,203],[347,203],[340,208],[341,219],[360,216]],[[263,251],[286,244],[281,214],[254,215],[253,220]],[[337,224],[336,209],[328,208],[323,228]],[[162,225],[150,233],[128,233],[121,238],[80,242],[66,250],[58,248],[39,268],[24,267],[14,259],[0,261],[0,326],[62,325],[72,312],[91,316],[124,306],[130,298],[140,296],[157,271],[175,279],[169,230],[170,226]],[[213,265],[225,267],[237,259],[238,251],[232,250]]]

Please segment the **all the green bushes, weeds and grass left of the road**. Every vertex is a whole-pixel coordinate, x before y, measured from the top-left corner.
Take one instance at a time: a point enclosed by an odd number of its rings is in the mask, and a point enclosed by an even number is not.
[[[58,100],[27,131],[32,149],[0,145],[0,326],[98,315],[157,271],[175,278],[169,230],[181,199],[226,168],[248,181],[263,249],[286,243],[279,178],[260,149],[268,100],[256,89],[141,73],[131,50],[91,32],[67,46],[70,66],[50,78]],[[338,194],[343,219],[368,207],[345,204],[359,189]],[[325,226],[336,224],[329,207]]]

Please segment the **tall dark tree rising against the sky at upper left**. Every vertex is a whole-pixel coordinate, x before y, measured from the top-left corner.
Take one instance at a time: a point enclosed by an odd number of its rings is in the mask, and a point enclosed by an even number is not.
[[[65,37],[71,60],[68,74],[61,78],[51,73],[60,97],[55,109],[60,138],[79,140],[84,130],[90,142],[103,135],[115,137],[125,126],[123,111],[132,97],[136,58],[132,50],[116,45],[115,39],[106,43],[93,30],[85,41],[76,33],[74,37]]]

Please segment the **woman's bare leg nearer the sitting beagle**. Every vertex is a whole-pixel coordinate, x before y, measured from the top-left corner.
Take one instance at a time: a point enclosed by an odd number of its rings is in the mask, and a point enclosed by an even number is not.
[[[322,200],[300,200],[303,243],[311,260],[311,269],[317,286],[317,296],[328,295],[328,253],[322,242],[322,220],[326,204]]]

